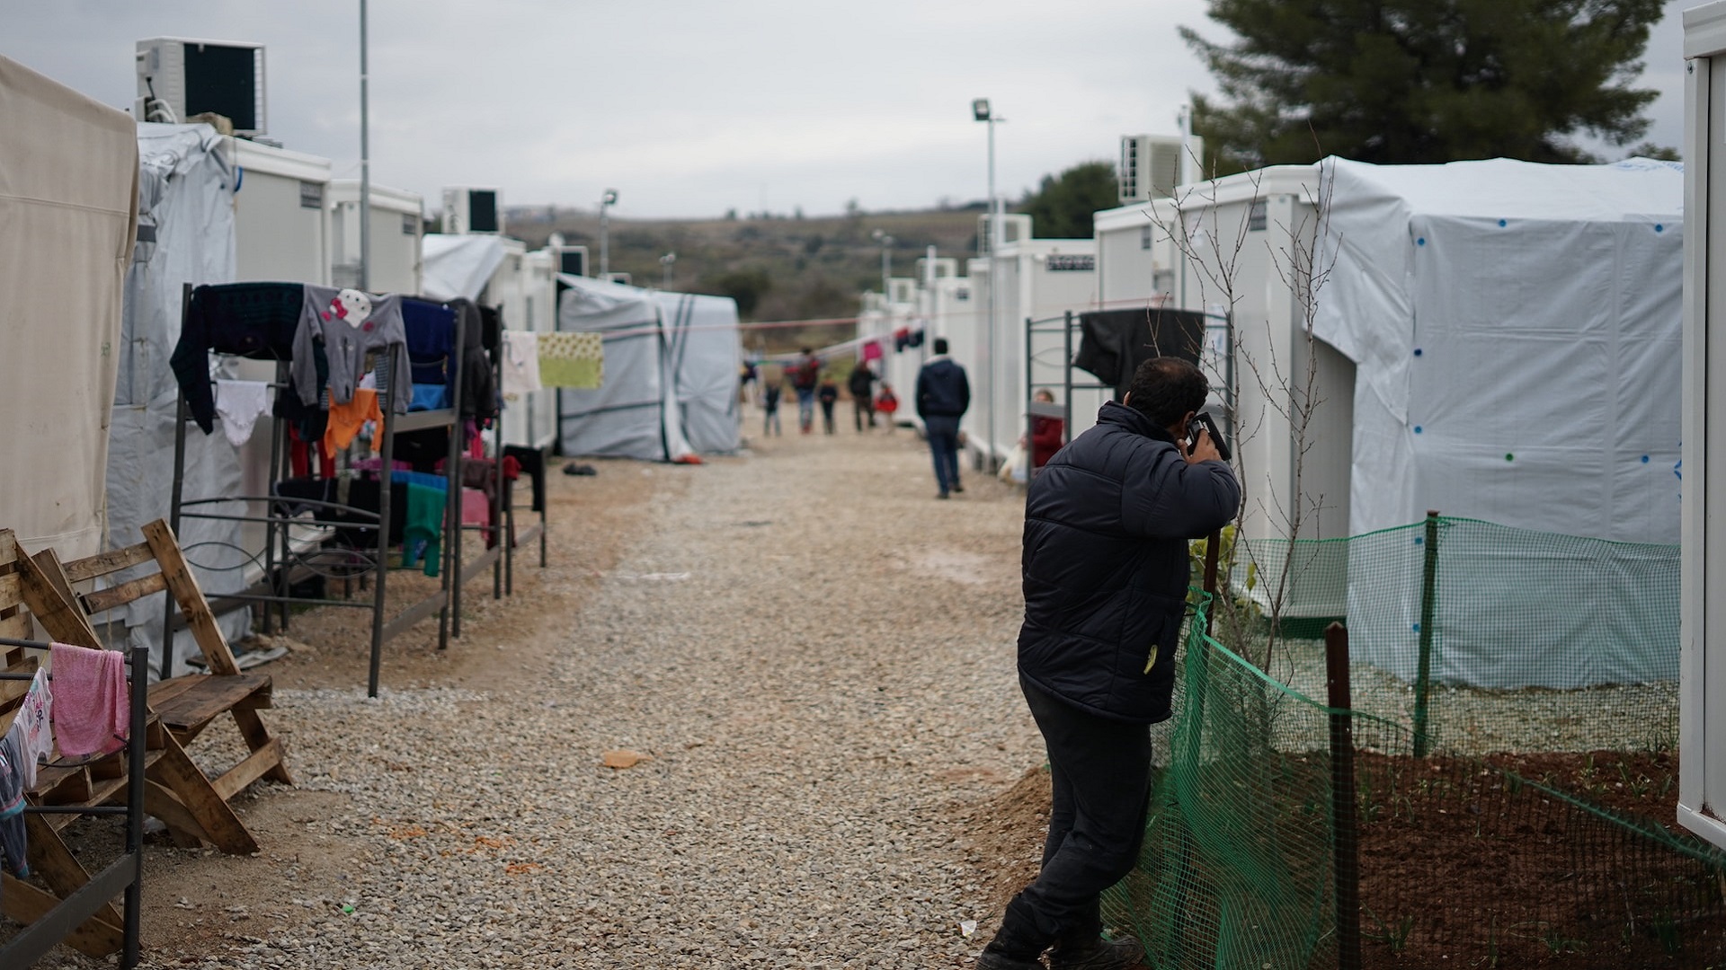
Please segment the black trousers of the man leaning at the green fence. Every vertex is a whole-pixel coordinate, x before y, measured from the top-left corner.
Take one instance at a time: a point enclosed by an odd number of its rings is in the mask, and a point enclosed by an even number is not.
[[[1034,958],[1056,939],[1094,937],[1098,896],[1139,861],[1151,794],[1150,725],[1082,711],[1020,678],[1049,751],[1055,806],[1043,872],[1006,908],[996,941]]]

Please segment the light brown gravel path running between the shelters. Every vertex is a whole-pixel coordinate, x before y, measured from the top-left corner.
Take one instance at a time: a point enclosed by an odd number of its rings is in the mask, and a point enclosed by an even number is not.
[[[903,431],[651,475],[683,480],[585,606],[544,604],[554,659],[514,689],[278,689],[300,789],[345,796],[302,825],[349,877],[288,868],[307,918],[147,963],[968,967],[960,923],[994,915],[953,808],[1043,758],[1013,678],[1022,494],[934,501]],[[452,649],[511,656],[483,623]]]

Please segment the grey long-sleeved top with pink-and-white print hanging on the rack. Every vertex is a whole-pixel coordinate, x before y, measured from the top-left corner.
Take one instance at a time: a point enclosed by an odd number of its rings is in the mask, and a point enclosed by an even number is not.
[[[407,330],[402,299],[359,290],[306,285],[300,326],[293,333],[293,385],[300,400],[318,400],[312,345],[321,340],[330,361],[330,402],[347,404],[366,376],[366,354],[388,350],[390,380],[397,381],[395,411],[407,411],[413,399],[413,364],[407,361]]]

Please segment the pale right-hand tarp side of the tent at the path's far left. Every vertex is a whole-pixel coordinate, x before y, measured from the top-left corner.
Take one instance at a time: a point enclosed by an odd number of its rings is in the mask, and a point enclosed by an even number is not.
[[[654,292],[654,299],[666,328],[678,421],[689,447],[701,454],[737,450],[742,421],[737,375],[744,354],[737,300],[666,292]]]

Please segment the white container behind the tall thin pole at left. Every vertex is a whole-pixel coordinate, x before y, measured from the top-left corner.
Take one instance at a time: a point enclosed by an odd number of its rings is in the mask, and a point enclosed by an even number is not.
[[[359,180],[333,180],[330,204],[330,278],[337,287],[359,285]],[[425,269],[425,204],[418,193],[371,186],[371,261],[366,288],[373,293],[418,293]]]

